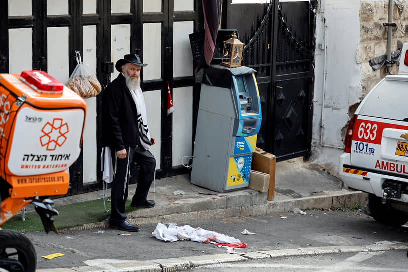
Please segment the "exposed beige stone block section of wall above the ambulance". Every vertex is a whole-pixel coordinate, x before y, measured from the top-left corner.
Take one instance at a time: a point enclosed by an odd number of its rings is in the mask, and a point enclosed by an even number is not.
[[[362,67],[363,97],[388,73],[385,65],[374,71],[369,60],[386,55],[388,29],[384,23],[388,22],[388,1],[365,1],[360,7],[360,48],[357,61]],[[393,22],[396,27],[392,30],[392,51],[408,42],[408,2],[396,0],[393,5]],[[398,66],[392,65],[391,74],[398,72]],[[362,98],[363,98],[362,97]]]

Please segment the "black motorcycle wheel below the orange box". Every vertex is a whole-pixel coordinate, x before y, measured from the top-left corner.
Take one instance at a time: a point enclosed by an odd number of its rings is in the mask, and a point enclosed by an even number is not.
[[[31,241],[20,232],[0,230],[0,267],[8,271],[35,272],[37,254]]]

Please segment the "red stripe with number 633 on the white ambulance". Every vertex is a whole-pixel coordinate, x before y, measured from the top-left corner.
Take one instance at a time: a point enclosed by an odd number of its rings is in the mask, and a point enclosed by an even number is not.
[[[370,120],[357,119],[354,126],[352,140],[374,144],[381,144],[382,131],[385,128],[395,128],[408,130],[408,126],[392,123],[375,122]]]

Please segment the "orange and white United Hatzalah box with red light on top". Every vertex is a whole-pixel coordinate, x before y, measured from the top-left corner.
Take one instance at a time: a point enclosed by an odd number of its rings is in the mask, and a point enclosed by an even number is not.
[[[80,154],[85,101],[44,71],[0,74],[0,176],[19,185],[63,183]],[[21,196],[21,195],[20,195]]]

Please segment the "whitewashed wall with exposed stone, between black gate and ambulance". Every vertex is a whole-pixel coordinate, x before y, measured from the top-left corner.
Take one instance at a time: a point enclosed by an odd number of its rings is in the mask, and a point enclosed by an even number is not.
[[[312,156],[310,163],[338,175],[349,119],[385,75],[368,61],[386,54],[388,0],[322,0],[316,16]],[[408,3],[394,1],[392,50],[408,42]],[[398,67],[393,65],[392,73]]]

